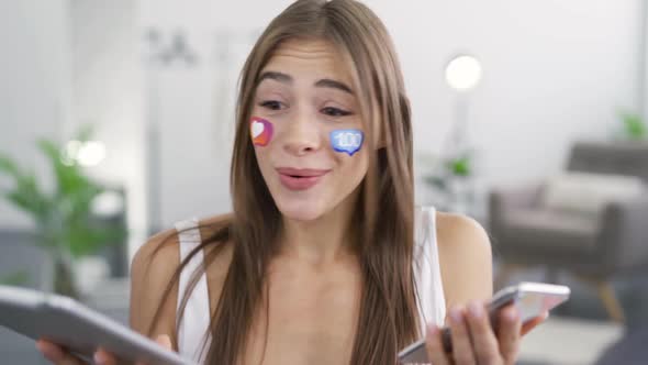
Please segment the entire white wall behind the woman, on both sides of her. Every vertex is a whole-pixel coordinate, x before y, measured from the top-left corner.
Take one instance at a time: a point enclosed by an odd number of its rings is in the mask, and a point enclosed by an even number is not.
[[[640,107],[640,0],[366,2],[394,37],[417,156],[439,151],[453,119],[445,63],[458,51],[482,60],[470,123],[487,184],[552,174],[573,140],[605,139],[617,107]],[[161,143],[157,223],[228,210],[236,77],[254,35],[289,3],[1,2],[0,44],[11,56],[0,67],[0,150],[37,163],[35,136],[97,123],[109,158],[93,173],[129,187],[135,201],[130,215],[138,220],[132,224],[145,226],[145,120],[155,121]],[[138,54],[152,52],[143,40],[149,29],[160,31],[163,44],[185,32],[199,63],[146,63],[142,75]],[[222,60],[225,45],[228,62]],[[422,175],[426,166],[418,162],[416,170]],[[425,190],[418,186],[420,202]],[[0,204],[0,223],[27,221]]]

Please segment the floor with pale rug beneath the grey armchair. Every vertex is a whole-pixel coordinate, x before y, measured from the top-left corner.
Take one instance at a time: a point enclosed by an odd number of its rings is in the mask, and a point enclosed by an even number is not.
[[[544,274],[527,269],[509,284],[543,281]],[[648,274],[611,281],[627,318],[623,325],[608,319],[588,285],[567,273],[558,281],[571,288],[571,298],[524,338],[519,365],[648,364]]]

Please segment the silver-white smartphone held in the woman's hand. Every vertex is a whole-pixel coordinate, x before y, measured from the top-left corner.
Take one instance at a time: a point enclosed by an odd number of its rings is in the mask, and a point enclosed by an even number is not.
[[[544,283],[521,283],[498,291],[488,305],[492,328],[496,331],[499,310],[513,305],[519,311],[522,323],[525,323],[545,311],[549,311],[569,299],[571,290],[562,285]],[[444,350],[453,352],[450,329],[442,330]],[[418,340],[399,353],[399,363],[429,363],[425,350],[425,339]]]

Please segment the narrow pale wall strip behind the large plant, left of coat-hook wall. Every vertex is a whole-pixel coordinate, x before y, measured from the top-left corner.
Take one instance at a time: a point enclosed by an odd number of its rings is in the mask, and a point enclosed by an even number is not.
[[[96,128],[107,158],[89,173],[123,186],[131,247],[147,235],[141,29],[132,0],[71,0],[72,114],[68,134]],[[131,252],[133,254],[133,250]]]

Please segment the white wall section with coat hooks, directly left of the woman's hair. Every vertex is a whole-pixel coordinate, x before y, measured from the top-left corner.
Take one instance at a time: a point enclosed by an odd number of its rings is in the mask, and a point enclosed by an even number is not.
[[[160,141],[159,204],[154,201],[153,207],[159,211],[152,214],[154,225],[170,226],[181,219],[231,209],[238,73],[260,30],[289,3],[141,1],[144,33],[159,31],[159,44],[168,47],[174,34],[183,32],[198,57],[193,66],[153,63],[146,68],[148,115]],[[157,49],[146,43],[145,47],[149,56]]]

